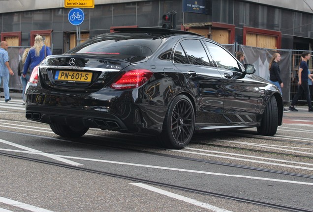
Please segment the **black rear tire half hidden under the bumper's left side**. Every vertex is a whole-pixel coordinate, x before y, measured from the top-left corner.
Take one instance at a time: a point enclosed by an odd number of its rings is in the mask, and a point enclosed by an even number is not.
[[[60,124],[50,124],[50,128],[57,135],[71,138],[81,137],[89,130],[85,127],[71,127]]]

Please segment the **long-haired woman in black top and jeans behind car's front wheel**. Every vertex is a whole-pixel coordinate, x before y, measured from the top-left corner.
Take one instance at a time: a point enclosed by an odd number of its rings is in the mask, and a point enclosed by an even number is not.
[[[280,53],[274,53],[270,65],[269,65],[269,71],[270,71],[270,79],[269,82],[272,84],[276,85],[278,89],[282,93],[282,88],[283,88],[283,82],[280,77],[281,74],[281,69],[280,66],[278,65],[278,62],[281,61],[281,54]],[[283,112],[288,112],[288,109],[283,108]]]

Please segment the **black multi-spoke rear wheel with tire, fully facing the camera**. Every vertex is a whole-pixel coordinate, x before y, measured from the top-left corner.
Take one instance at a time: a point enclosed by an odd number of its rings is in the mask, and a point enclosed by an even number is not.
[[[184,148],[191,140],[194,122],[194,109],[188,97],[175,97],[166,112],[159,141],[167,148]]]

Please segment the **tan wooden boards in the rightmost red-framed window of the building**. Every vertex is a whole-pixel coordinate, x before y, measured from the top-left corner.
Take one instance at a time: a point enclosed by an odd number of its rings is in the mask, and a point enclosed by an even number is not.
[[[277,41],[275,36],[247,33],[246,46],[277,49]]]

